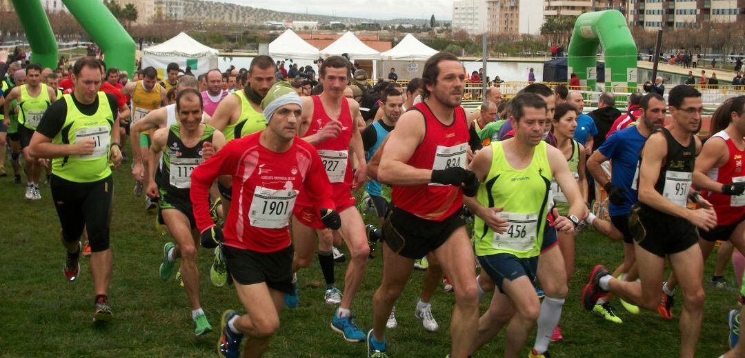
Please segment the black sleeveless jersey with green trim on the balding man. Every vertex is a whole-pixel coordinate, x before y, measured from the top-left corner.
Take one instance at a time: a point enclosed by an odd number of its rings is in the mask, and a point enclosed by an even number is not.
[[[204,132],[194,147],[186,147],[181,141],[179,124],[171,124],[168,128],[168,139],[163,148],[162,164],[158,170],[159,175],[156,175],[156,183],[169,195],[188,201],[191,171],[203,162],[202,144],[206,141],[212,142],[215,128],[205,124]]]

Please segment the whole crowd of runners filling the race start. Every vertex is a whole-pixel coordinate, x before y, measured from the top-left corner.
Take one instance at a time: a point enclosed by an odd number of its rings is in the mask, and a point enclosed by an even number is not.
[[[113,319],[112,172],[127,161],[133,194],[173,239],[159,278],[179,279],[195,335],[213,330],[200,302],[199,252],[212,258],[212,284],[235,288],[242,307],[220,318],[221,357],[271,349],[314,258],[323,301],[336,307],[332,330],[366,342],[367,357],[388,357],[386,332],[397,327],[395,306],[415,268],[427,270],[413,310],[423,329],[439,330],[431,298],[440,282],[454,292],[448,357],[471,357],[503,327],[505,357],[518,357],[533,327],[529,357],[550,357],[550,343],[563,339],[566,301],[616,324],[623,319],[613,298],[632,314],[672,319],[677,286],[680,356],[694,357],[704,261],[716,240],[726,242],[720,250],[745,250],[745,96],[717,109],[702,144],[703,105],[691,86],[673,87],[667,100],[633,93],[625,112],[603,93],[589,113],[583,93],[568,86],[530,83],[510,100],[489,87],[471,112],[461,106],[466,72],[446,52],[406,86],[371,86],[364,70],[336,56],[319,61],[317,74],[262,55],[249,68],[194,77],[171,63],[162,78],[148,67],[131,80],[93,57],[69,73],[6,63],[0,51],[0,176],[7,138],[25,199],[41,199],[39,183],[49,184],[66,280],[76,281],[80,257],[90,257],[94,320]],[[610,221],[588,209],[600,193]],[[377,220],[366,226],[361,213],[373,209]],[[583,291],[570,292],[575,237],[587,226],[623,241],[624,262],[598,264]],[[349,262],[337,286],[342,242]],[[384,260],[382,277],[366,278],[374,256]],[[723,265],[717,270],[710,281],[718,285]],[[355,303],[370,304],[355,301],[365,279],[380,280],[369,330],[353,313]],[[738,310],[729,325],[732,351],[723,357],[743,357]]]

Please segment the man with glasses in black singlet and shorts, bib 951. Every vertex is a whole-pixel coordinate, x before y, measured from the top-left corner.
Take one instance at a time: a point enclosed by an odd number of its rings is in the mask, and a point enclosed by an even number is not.
[[[656,309],[667,256],[673,273],[684,278],[680,281],[685,300],[680,318],[680,355],[686,358],[694,357],[703,318],[703,261],[696,245],[696,227],[711,230],[717,226],[717,215],[698,192],[689,193],[694,156],[700,150],[694,133],[703,111],[701,94],[679,85],[671,90],[668,100],[673,121],[650,135],[641,150],[639,205],[629,217],[641,283],[613,278],[605,267],[597,265],[582,299],[585,309],[592,310],[600,296],[612,292],[640,307]],[[685,208],[688,199],[702,208]]]

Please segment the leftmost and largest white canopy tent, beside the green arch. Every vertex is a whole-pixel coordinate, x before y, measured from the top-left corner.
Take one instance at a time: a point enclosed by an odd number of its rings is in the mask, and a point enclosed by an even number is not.
[[[182,70],[186,70],[186,66],[191,67],[191,73],[199,76],[218,68],[218,50],[202,45],[182,32],[142,51],[142,68],[155,67],[161,78],[164,78],[168,63],[172,62],[178,63]]]

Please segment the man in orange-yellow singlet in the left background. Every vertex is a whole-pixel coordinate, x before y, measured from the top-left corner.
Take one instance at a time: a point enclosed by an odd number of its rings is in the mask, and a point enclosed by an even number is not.
[[[127,86],[121,89],[121,94],[130,96],[132,98],[132,121],[131,125],[136,124],[137,121],[145,118],[153,109],[159,109],[165,104],[165,93],[166,90],[160,86],[158,81],[158,71],[152,66],[142,70],[142,80],[131,81],[127,83]],[[140,151],[132,153],[132,156],[140,157],[140,161],[145,166],[145,172],[148,171],[148,147],[150,147],[149,134],[142,133],[139,136]],[[134,159],[137,161],[138,159]],[[144,173],[145,173],[144,172]],[[142,195],[142,188],[148,185],[148,176],[143,173],[141,178],[135,178],[134,193],[136,196]],[[145,208],[155,208],[156,204],[150,200],[150,197],[145,196]]]

